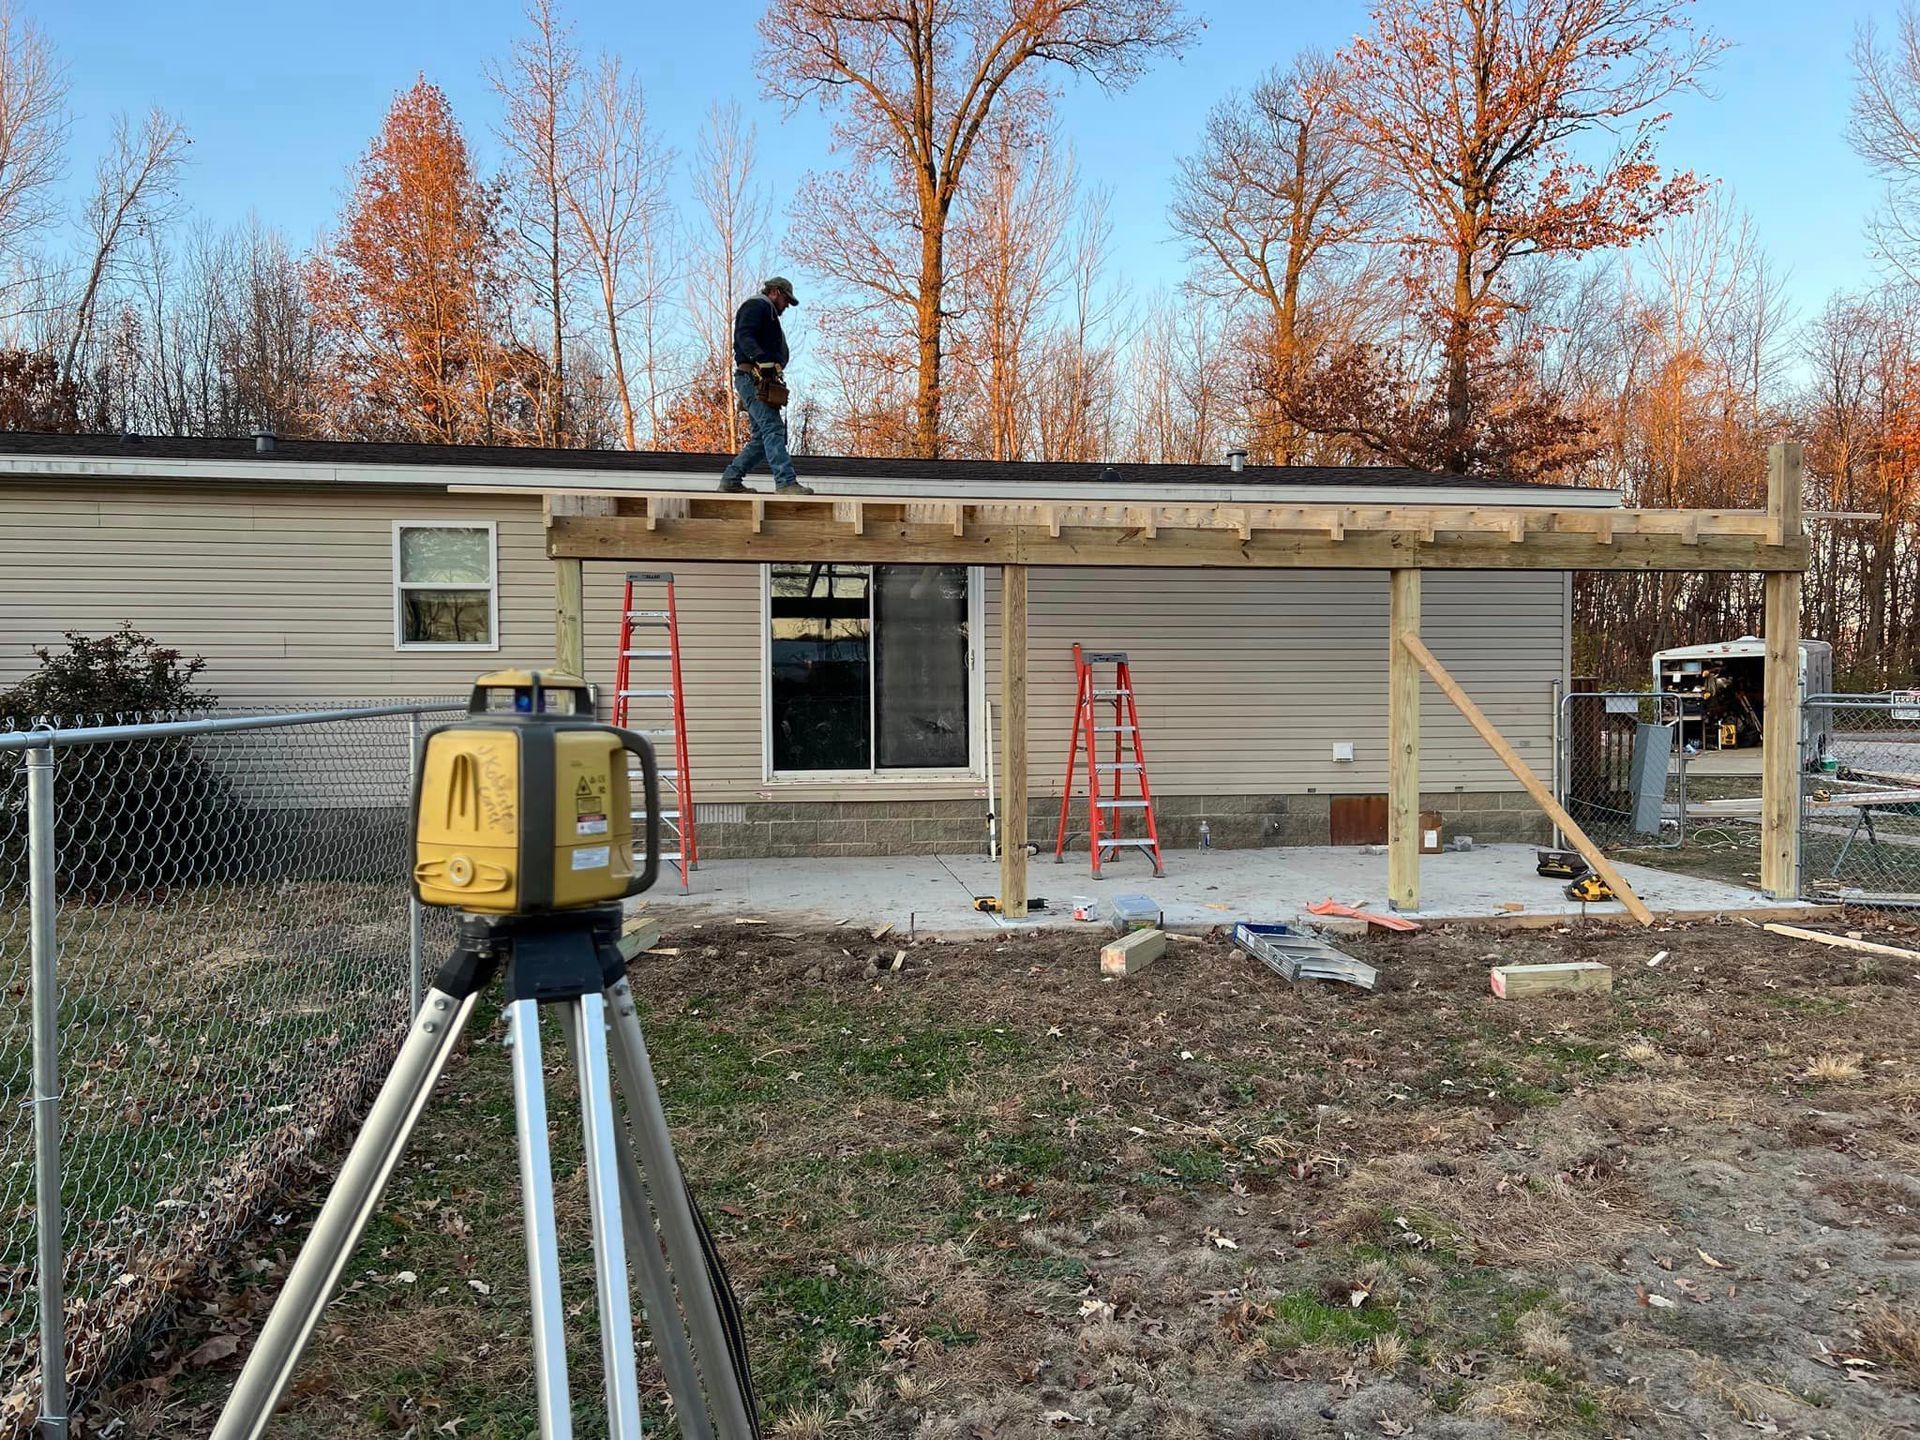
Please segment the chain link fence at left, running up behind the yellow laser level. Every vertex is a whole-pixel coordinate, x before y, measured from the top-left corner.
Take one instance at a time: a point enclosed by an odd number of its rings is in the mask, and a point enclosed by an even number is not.
[[[0,733],[0,1436],[65,1434],[392,1062],[451,939],[411,755],[459,712]]]

